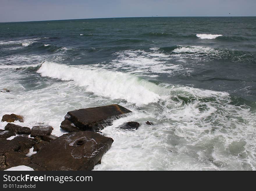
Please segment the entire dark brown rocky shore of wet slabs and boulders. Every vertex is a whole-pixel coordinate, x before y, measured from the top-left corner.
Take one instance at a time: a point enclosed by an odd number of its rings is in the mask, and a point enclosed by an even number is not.
[[[129,113],[117,104],[69,111],[60,126],[67,133],[60,137],[51,134],[51,126],[22,127],[13,123],[24,122],[22,116],[3,115],[2,122],[8,124],[0,130],[0,170],[19,165],[34,170],[92,170],[113,143],[100,130]],[[138,122],[126,122],[118,128],[139,126]]]

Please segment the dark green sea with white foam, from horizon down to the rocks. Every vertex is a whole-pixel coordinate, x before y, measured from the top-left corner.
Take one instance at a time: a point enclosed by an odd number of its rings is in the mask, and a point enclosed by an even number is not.
[[[94,170],[255,170],[255,34],[256,17],[0,23],[0,115],[60,136],[68,111],[117,103],[133,113]]]

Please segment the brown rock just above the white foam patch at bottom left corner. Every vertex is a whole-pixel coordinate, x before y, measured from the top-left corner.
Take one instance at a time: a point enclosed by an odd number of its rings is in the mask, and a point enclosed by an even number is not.
[[[31,163],[31,159],[22,152],[9,151],[4,154],[6,167],[16,167]]]

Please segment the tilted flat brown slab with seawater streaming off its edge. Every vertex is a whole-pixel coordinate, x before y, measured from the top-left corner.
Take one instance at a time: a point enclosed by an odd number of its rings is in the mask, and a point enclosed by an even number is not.
[[[112,125],[114,119],[126,116],[131,111],[117,104],[69,111],[71,121],[83,131],[99,131]]]

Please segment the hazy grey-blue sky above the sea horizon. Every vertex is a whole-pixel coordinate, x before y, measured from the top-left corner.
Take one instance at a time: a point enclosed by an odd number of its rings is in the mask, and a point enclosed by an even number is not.
[[[256,0],[0,0],[0,22],[156,15],[256,16]]]

